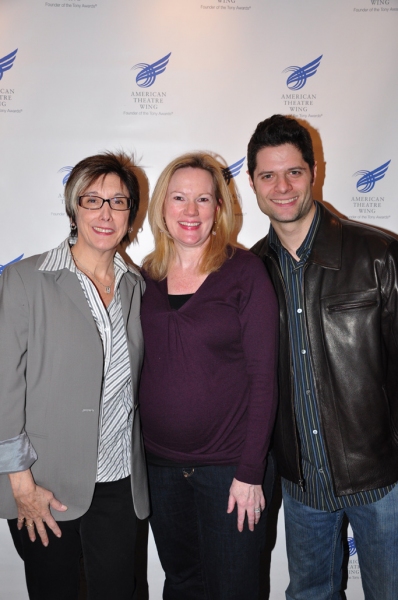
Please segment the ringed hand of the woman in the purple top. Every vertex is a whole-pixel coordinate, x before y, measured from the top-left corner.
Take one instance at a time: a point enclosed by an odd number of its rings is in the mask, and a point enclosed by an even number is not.
[[[261,511],[265,509],[265,498],[261,485],[250,485],[250,483],[243,483],[234,478],[229,489],[228,513],[234,510],[235,504],[238,508],[239,531],[243,531],[246,514],[249,529],[254,531],[254,526],[260,520]]]

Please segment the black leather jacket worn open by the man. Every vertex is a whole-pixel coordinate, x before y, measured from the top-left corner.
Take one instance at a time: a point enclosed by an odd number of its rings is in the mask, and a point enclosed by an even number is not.
[[[320,209],[304,310],[322,434],[341,496],[398,481],[398,241]],[[268,236],[252,251],[264,260],[280,306],[275,453],[280,474],[299,483],[285,287]]]

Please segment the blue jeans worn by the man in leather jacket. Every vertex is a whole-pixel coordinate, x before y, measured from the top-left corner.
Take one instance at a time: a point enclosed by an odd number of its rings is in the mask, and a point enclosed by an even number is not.
[[[335,512],[305,506],[283,490],[283,506],[290,575],[287,600],[342,597],[344,515],[354,533],[365,599],[397,600],[398,485],[377,502]]]

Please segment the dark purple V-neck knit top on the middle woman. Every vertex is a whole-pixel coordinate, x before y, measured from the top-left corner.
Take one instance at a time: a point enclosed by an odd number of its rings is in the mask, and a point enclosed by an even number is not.
[[[236,479],[260,484],[277,404],[278,306],[264,264],[237,249],[179,310],[167,280],[146,284],[147,450],[180,464],[236,465]]]

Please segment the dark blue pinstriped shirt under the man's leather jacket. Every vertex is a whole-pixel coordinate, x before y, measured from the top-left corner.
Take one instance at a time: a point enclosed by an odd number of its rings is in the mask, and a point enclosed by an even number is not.
[[[272,226],[269,231],[269,243],[278,256],[279,267],[286,288],[294,374],[294,406],[300,438],[304,491],[301,490],[299,485],[286,479],[283,479],[283,485],[293,498],[303,504],[318,510],[332,512],[341,508],[369,504],[380,500],[394,486],[390,485],[385,488],[347,496],[336,496],[333,491],[331,471],[321,431],[304,313],[304,270],[316,237],[319,221],[320,211],[317,206],[307,236],[296,252],[300,259],[298,262],[282,246]]]

